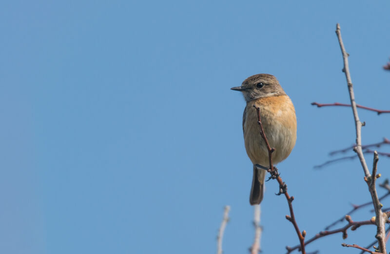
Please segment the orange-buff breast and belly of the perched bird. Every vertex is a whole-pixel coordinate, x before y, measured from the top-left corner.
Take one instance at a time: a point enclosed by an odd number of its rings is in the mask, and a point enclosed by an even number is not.
[[[257,123],[254,104],[260,107],[260,117],[270,146],[275,148],[273,163],[290,155],[296,141],[296,117],[291,99],[287,95],[259,98],[249,101],[244,111],[243,130],[245,148],[254,164],[268,167],[268,151]]]

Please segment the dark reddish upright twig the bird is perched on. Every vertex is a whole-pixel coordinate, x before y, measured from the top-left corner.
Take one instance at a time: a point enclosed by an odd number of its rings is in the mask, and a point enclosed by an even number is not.
[[[265,144],[267,146],[267,149],[268,149],[268,157],[269,157],[269,162],[270,162],[270,168],[268,169],[268,172],[270,172],[272,178],[275,178],[277,180],[277,182],[279,183],[279,188],[280,188],[279,194],[284,194],[286,196],[287,202],[289,204],[289,209],[290,209],[290,215],[286,215],[286,219],[288,219],[292,223],[292,225],[294,226],[296,234],[298,235],[298,238],[299,238],[300,249],[302,251],[302,254],[306,254],[306,251],[305,251],[306,231],[303,231],[301,233],[300,230],[299,230],[298,224],[296,223],[294,211],[292,209],[292,200],[294,200],[294,197],[290,196],[287,193],[287,185],[286,185],[286,183],[283,182],[282,178],[277,173],[277,169],[275,167],[273,167],[272,153],[275,151],[275,149],[271,148],[270,143],[268,142],[267,136],[264,133],[263,124],[261,123],[261,117],[260,117],[260,108],[257,107],[255,104],[254,104],[254,108],[257,111],[257,118],[258,118],[258,122],[257,123],[259,124],[259,127],[260,127],[260,135],[263,138],[263,140],[264,140],[264,142],[265,142]]]

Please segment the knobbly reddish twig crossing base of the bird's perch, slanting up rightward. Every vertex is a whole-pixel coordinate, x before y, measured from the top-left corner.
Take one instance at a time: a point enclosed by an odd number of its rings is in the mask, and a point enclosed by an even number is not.
[[[337,234],[337,233],[343,233],[343,239],[346,239],[348,237],[348,234],[347,234],[347,230],[349,228],[351,228],[352,231],[356,230],[357,228],[359,228],[360,226],[363,226],[363,225],[375,225],[375,220],[374,219],[370,219],[370,220],[363,220],[363,221],[352,221],[351,219],[351,216],[350,215],[346,215],[345,216],[345,219],[348,221],[348,224],[345,225],[344,227],[342,228],[339,228],[339,229],[335,229],[335,230],[331,230],[331,231],[321,231],[319,232],[318,234],[314,235],[312,238],[310,238],[309,240],[307,240],[305,242],[305,246],[307,246],[309,243],[321,238],[321,237],[324,237],[324,236],[327,236],[327,235],[330,235],[330,234]],[[388,221],[389,222],[389,221]],[[299,248],[300,246],[299,245],[296,245],[294,247],[289,247],[287,246],[286,249],[287,249],[287,254],[291,253],[292,251],[294,250],[300,250]]]

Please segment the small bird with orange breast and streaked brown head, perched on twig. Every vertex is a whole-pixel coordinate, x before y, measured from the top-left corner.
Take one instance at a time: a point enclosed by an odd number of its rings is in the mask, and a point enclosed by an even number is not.
[[[260,204],[264,195],[266,170],[257,168],[259,164],[269,168],[266,143],[260,135],[256,107],[260,108],[260,118],[264,133],[271,148],[273,163],[286,159],[296,141],[296,116],[290,97],[284,92],[279,81],[270,74],[256,74],[246,78],[241,86],[232,87],[240,91],[246,101],[242,117],[242,129],[246,152],[253,163],[253,180],[249,203]]]

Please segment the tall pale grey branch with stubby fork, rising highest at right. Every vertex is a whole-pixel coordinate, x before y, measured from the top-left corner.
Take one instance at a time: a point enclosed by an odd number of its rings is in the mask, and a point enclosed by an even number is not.
[[[375,175],[371,177],[369,168],[367,166],[366,160],[363,155],[362,151],[362,137],[361,137],[361,129],[362,129],[362,122],[359,120],[359,115],[357,113],[357,107],[356,107],[356,102],[355,102],[355,95],[353,93],[353,85],[351,81],[351,75],[350,75],[350,69],[348,65],[348,54],[345,50],[343,39],[341,38],[341,31],[340,31],[340,24],[337,23],[336,26],[336,34],[337,38],[340,44],[340,49],[341,53],[343,55],[343,60],[344,60],[344,68],[343,71],[345,73],[345,77],[347,78],[347,84],[348,84],[348,91],[350,93],[350,100],[351,100],[351,105],[352,105],[352,112],[353,112],[353,117],[355,120],[355,128],[356,128],[356,146],[354,147],[354,151],[357,153],[360,159],[360,163],[362,165],[364,175],[366,182],[369,186],[369,191],[371,194],[371,199],[372,203],[374,205],[375,209],[375,215],[376,215],[376,227],[377,227],[377,234],[375,235],[375,238],[378,239],[378,249],[379,252],[381,253],[386,253],[386,243],[385,243],[385,238],[386,238],[386,233],[385,233],[385,218],[382,214],[381,211],[381,203],[379,202],[378,195],[376,193],[376,188],[375,188]],[[379,114],[379,113],[378,113]],[[377,163],[377,157],[378,155],[374,155],[374,169],[376,172],[376,163]],[[376,162],[375,162],[376,160]]]

